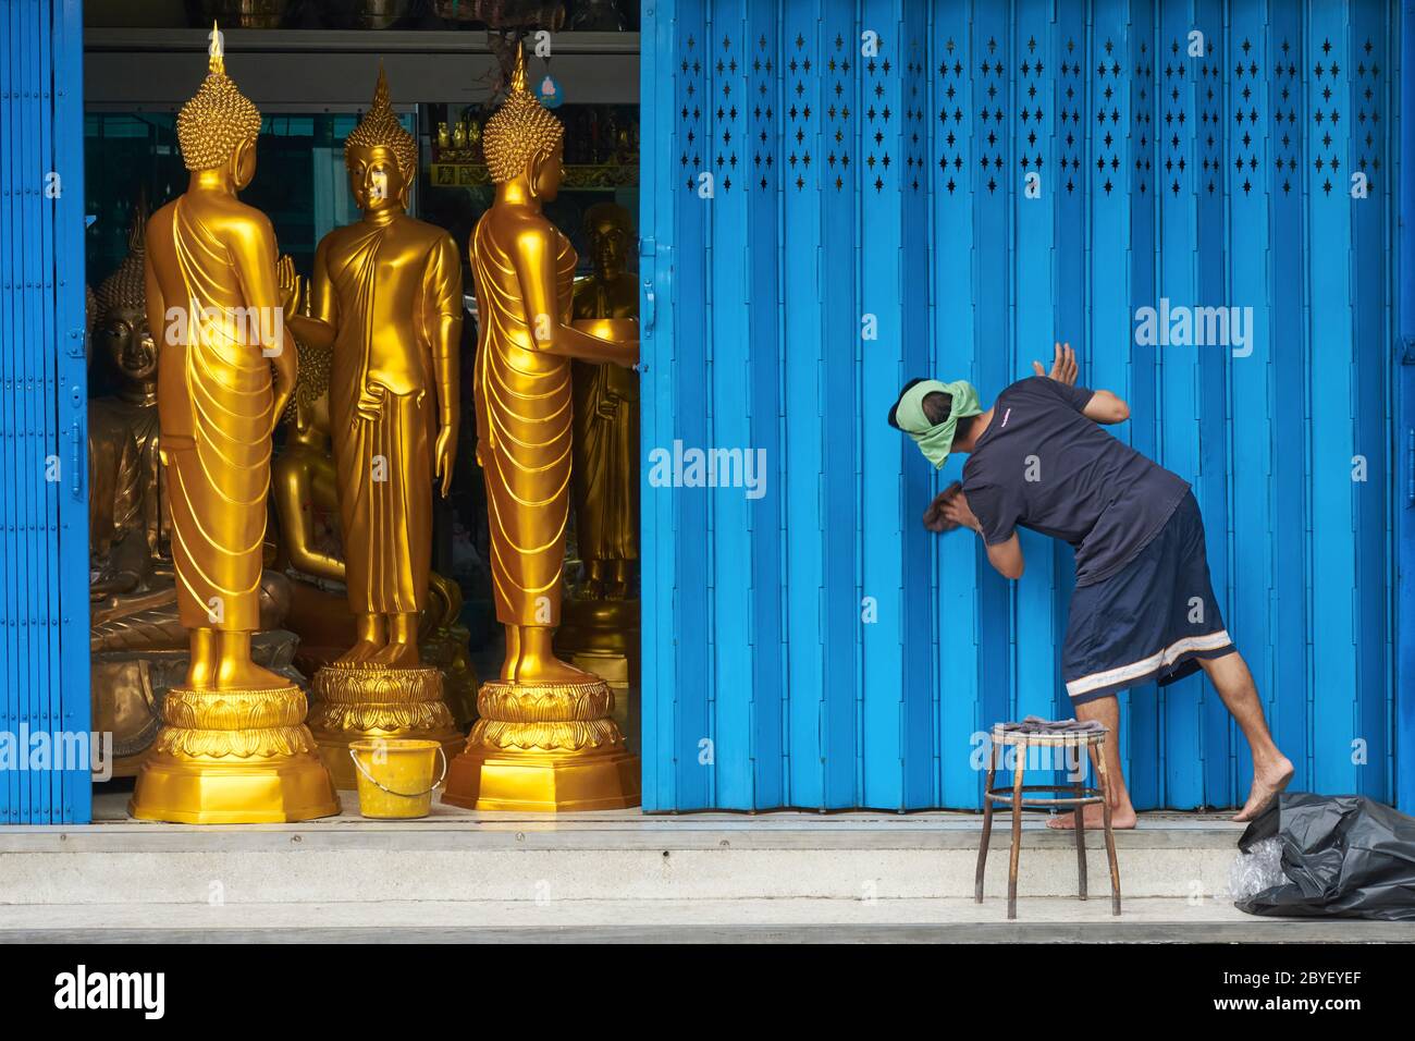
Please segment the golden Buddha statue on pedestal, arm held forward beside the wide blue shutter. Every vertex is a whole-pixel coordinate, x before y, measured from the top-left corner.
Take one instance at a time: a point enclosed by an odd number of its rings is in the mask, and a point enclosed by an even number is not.
[[[570,324],[576,255],[542,212],[563,176],[562,139],[560,122],[526,89],[518,47],[509,93],[483,132],[495,201],[471,238],[477,462],[507,657],[499,680],[481,686],[481,718],[449,770],[443,800],[457,806],[638,804],[638,759],[610,717],[610,688],[552,650],[570,499],[570,360],[638,360],[637,337],[606,340]]]

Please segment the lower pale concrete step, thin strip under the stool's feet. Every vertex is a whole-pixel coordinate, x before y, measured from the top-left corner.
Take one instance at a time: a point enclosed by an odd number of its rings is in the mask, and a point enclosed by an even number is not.
[[[1034,898],[48,904],[6,908],[14,942],[1415,942],[1415,923],[1254,918],[1231,904]]]

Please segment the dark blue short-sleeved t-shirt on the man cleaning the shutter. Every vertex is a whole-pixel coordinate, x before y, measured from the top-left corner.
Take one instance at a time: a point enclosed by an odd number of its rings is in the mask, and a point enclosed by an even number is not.
[[[964,494],[989,545],[1017,527],[1075,550],[1075,584],[1124,568],[1159,534],[1189,482],[1081,415],[1094,391],[1047,377],[998,395],[964,465]]]

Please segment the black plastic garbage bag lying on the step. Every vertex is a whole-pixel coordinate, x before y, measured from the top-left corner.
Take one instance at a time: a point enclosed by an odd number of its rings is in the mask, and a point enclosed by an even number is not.
[[[1249,915],[1415,922],[1415,817],[1358,795],[1283,792],[1238,840],[1282,843],[1286,882],[1240,899]]]

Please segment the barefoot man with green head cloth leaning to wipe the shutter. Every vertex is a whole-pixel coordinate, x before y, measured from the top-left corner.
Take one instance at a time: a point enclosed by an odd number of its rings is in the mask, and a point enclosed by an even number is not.
[[[1017,528],[1061,538],[1075,550],[1075,592],[1061,652],[1061,677],[1081,719],[1118,732],[1115,694],[1149,680],[1174,683],[1203,669],[1252,749],[1252,790],[1234,820],[1251,820],[1286,787],[1292,763],[1278,751],[1242,656],[1224,629],[1208,579],[1204,523],[1189,483],[1116,440],[1097,423],[1119,423],[1129,406],[1109,391],[1075,385],[1075,354],[1057,344],[1050,375],[1007,387],[983,409],[959,380],[914,380],[889,422],[942,467],[966,452],[962,484],[944,489],[924,513],[931,531],[966,527],[988,561],[1020,578]],[[1135,827],[1119,744],[1105,742],[1111,823]],[[1071,827],[1073,814],[1051,827]],[[1085,807],[1101,826],[1101,807]]]

